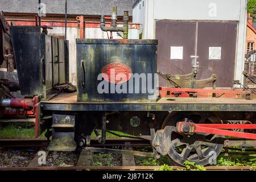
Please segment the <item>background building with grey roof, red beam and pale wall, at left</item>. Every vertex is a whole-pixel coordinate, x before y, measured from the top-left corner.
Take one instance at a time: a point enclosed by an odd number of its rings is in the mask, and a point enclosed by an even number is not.
[[[65,1],[41,0],[45,4],[46,16],[42,25],[53,27],[48,34],[64,36]],[[15,26],[35,26],[38,15],[38,0],[0,0],[0,10],[4,12],[9,24]],[[106,38],[110,32],[100,29],[100,16],[106,15],[106,26],[110,25],[112,7],[117,6],[118,26],[122,26],[123,11],[129,11],[129,39],[139,38],[139,24],[132,22],[131,0],[68,0],[67,40],[69,40],[69,81],[76,85],[76,38]],[[122,35],[122,33],[120,33]],[[113,32],[113,38],[120,38]]]

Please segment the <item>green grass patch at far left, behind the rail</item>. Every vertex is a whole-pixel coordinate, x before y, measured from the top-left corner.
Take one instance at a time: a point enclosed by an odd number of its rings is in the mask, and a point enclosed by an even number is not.
[[[31,139],[35,138],[35,127],[21,127],[15,125],[9,125],[6,127],[0,127],[1,139]],[[40,135],[40,138],[44,138],[44,133]]]

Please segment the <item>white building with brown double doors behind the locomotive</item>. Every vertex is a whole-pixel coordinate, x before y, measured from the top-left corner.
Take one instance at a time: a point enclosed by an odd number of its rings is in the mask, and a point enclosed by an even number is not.
[[[199,78],[218,75],[217,86],[243,82],[246,0],[134,0],[133,22],[143,39],[158,39],[160,72],[192,72],[199,56]],[[160,86],[166,82],[161,78]]]

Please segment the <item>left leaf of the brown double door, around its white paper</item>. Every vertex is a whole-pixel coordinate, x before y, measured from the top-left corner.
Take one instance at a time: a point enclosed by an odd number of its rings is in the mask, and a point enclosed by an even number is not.
[[[158,70],[162,73],[185,75],[192,72],[191,55],[195,55],[196,22],[156,21],[158,39]],[[183,47],[183,59],[170,59],[171,46]],[[167,86],[159,77],[159,86]]]

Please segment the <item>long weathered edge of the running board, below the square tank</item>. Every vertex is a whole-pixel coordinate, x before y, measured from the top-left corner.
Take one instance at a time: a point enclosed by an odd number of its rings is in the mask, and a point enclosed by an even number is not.
[[[237,99],[238,100],[238,99]],[[221,101],[221,100],[220,100]],[[241,100],[245,101],[246,100]],[[225,100],[223,101],[225,102]],[[256,111],[255,100],[250,103],[51,103],[42,102],[43,110],[59,111]]]

